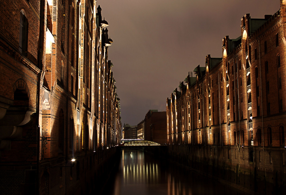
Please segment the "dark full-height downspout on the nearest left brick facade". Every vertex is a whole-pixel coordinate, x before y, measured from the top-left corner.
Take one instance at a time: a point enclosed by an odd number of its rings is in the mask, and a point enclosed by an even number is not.
[[[40,28],[39,28],[39,41],[40,41],[40,45],[39,45],[39,51],[38,51],[38,68],[40,69],[38,75],[37,75],[37,100],[36,100],[36,115],[37,115],[37,170],[36,170],[36,174],[37,174],[37,180],[36,180],[36,194],[39,194],[39,180],[40,180],[40,125],[39,125],[39,117],[40,117],[40,87],[41,87],[41,73],[42,70],[42,59],[43,59],[43,42],[44,42],[44,25],[43,25],[43,17],[45,17],[45,15],[43,14],[44,10],[43,10],[43,6],[45,4],[43,4],[43,2],[45,3],[45,1],[41,0],[40,1]]]

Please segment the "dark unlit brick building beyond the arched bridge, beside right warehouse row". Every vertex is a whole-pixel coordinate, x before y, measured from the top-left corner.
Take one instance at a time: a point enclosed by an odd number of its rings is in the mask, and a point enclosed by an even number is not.
[[[166,112],[149,110],[138,125],[138,137],[146,141],[166,144]]]

